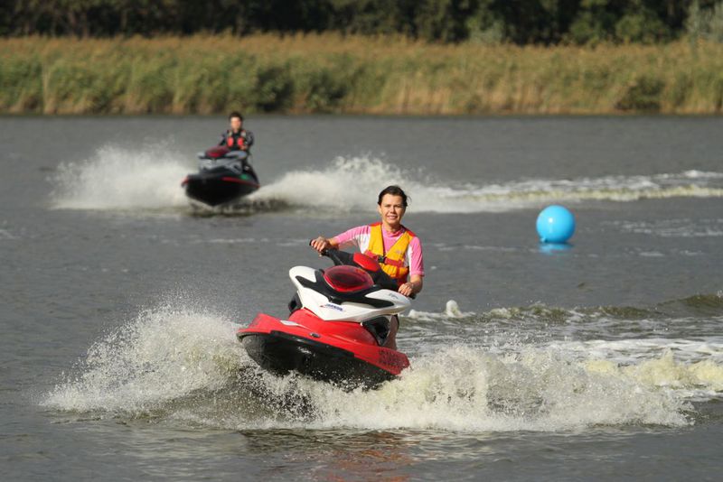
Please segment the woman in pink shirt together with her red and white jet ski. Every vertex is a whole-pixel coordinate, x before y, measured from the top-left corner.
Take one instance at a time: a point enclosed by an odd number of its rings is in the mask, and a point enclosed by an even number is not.
[[[303,266],[289,272],[297,293],[288,320],[259,314],[239,340],[260,366],[345,387],[379,385],[409,365],[397,351],[399,313],[422,288],[421,243],[401,225],[407,195],[390,186],[379,195],[381,222],[311,245],[332,258],[333,268]],[[362,253],[334,249],[355,244]],[[408,280],[408,276],[411,280]]]

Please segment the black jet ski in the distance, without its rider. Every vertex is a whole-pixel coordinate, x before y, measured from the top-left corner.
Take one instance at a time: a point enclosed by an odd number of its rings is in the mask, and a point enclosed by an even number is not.
[[[199,171],[185,177],[186,196],[209,206],[229,204],[258,190],[258,177],[249,153],[219,145],[198,154]]]

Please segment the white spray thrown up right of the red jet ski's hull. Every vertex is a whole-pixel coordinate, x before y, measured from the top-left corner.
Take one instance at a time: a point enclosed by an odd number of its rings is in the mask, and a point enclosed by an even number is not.
[[[374,392],[315,396],[320,427],[561,431],[594,425],[688,423],[687,403],[633,377],[588,370],[549,349],[507,356],[456,346],[412,359]],[[373,407],[370,410],[370,407]]]

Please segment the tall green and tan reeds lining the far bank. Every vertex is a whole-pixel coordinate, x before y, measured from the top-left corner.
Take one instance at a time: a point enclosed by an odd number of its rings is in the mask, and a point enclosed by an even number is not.
[[[723,44],[513,46],[404,37],[0,40],[0,112],[719,114]]]

